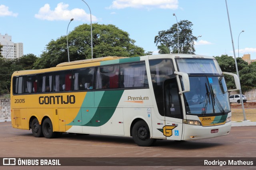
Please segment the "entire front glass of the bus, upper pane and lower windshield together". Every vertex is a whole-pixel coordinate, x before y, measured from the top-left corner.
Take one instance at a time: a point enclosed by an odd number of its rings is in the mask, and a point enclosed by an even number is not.
[[[230,112],[226,82],[216,60],[176,61],[179,71],[189,74],[190,92],[184,93],[187,114],[210,115]]]

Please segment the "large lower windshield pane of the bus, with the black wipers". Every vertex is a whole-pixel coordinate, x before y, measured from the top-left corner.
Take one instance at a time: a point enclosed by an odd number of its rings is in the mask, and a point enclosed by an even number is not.
[[[187,114],[226,114],[230,112],[228,90],[223,76],[190,76],[190,92],[184,93]]]

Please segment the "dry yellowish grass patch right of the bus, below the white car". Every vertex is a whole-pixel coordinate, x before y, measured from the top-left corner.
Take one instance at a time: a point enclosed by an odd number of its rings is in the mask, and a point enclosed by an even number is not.
[[[231,108],[232,111],[232,121],[243,121],[244,120],[244,115],[243,115],[243,110],[240,108]],[[246,108],[244,109],[245,111],[245,116],[247,120],[250,121],[256,121],[256,108]]]

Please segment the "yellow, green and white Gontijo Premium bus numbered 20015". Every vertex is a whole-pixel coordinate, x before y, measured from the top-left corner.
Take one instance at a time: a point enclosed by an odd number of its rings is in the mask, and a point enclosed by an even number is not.
[[[195,140],[227,135],[231,110],[214,57],[102,57],[12,74],[12,127],[34,137],[61,133]],[[236,74],[236,88],[240,84]],[[237,90],[234,89],[234,90]]]

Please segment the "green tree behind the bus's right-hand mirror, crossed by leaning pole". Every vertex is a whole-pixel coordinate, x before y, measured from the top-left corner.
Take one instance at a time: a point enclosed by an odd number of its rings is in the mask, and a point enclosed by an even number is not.
[[[223,72],[232,72],[236,74],[236,65],[233,57],[228,55],[222,55],[221,57],[215,57],[218,61],[220,68]],[[249,64],[242,58],[236,58],[236,63],[238,67],[238,73],[240,78],[241,90],[244,94],[256,88],[256,63]],[[228,89],[234,89],[235,83],[232,76],[226,76],[226,82]]]

